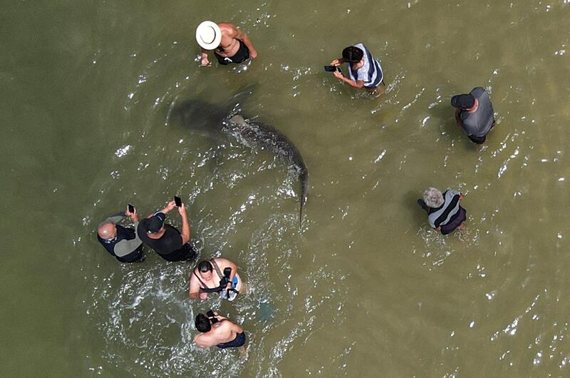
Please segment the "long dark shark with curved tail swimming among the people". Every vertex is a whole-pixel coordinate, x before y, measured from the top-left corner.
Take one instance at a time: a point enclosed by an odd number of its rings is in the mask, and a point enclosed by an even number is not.
[[[224,111],[219,106],[204,101],[186,101],[175,106],[173,118],[177,118],[183,126],[208,133],[223,133],[234,137],[239,143],[249,148],[268,150],[294,171],[301,183],[299,191],[299,227],[303,221],[303,208],[307,200],[309,170],[299,150],[283,133],[273,126],[247,121],[240,114]]]

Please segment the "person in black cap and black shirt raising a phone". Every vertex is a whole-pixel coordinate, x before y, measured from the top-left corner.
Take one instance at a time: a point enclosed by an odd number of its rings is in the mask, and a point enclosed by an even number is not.
[[[182,233],[171,225],[165,225],[166,214],[176,208],[171,201],[165,208],[143,219],[138,225],[138,235],[142,242],[151,247],[167,261],[194,260],[197,250],[188,244],[190,241],[190,223],[186,215],[185,205],[178,208],[182,218]]]

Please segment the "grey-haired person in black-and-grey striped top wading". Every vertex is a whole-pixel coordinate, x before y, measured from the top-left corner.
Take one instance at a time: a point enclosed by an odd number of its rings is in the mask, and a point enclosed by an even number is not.
[[[464,199],[465,195],[455,189],[447,189],[441,193],[436,188],[427,188],[423,193],[423,200],[418,200],[418,205],[427,211],[430,226],[447,235],[467,219],[467,211],[459,204],[459,201]]]

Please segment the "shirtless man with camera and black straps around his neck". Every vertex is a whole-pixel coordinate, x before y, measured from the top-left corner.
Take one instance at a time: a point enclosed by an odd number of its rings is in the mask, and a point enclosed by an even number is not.
[[[224,280],[224,270],[230,268],[232,271],[229,273],[228,282],[220,286],[220,282]],[[234,300],[237,293],[233,290],[240,292],[242,290],[242,278],[237,274],[237,265],[233,262],[224,259],[223,257],[216,257],[209,261],[200,261],[198,265],[192,270],[190,275],[190,289],[188,294],[191,298],[205,300],[208,297],[207,289],[218,288],[217,292],[220,296]],[[228,297],[228,289],[229,297]]]

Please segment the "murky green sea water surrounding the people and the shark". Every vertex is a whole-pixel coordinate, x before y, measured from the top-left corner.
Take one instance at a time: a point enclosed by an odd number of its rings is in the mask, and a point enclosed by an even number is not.
[[[0,41],[2,377],[564,377],[569,373],[569,1],[17,1]],[[198,68],[195,26],[229,21],[259,57]],[[362,41],[388,93],[322,72]],[[489,90],[483,148],[450,97]],[[248,88],[251,93],[233,99]],[[298,183],[266,151],[189,130],[192,100],[289,136]],[[467,194],[443,237],[415,204]],[[95,240],[106,215],[175,193],[202,257],[252,286],[187,298],[190,266],[123,266]],[[176,215],[172,221],[177,223]],[[198,350],[219,308],[249,357]]]

